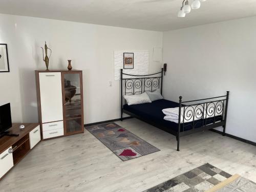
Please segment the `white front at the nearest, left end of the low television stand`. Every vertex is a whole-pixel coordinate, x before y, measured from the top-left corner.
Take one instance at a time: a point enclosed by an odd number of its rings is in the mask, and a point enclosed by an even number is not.
[[[13,167],[12,153],[9,153],[10,148],[0,154],[0,178],[3,177],[8,172],[8,170],[10,170],[10,168]]]

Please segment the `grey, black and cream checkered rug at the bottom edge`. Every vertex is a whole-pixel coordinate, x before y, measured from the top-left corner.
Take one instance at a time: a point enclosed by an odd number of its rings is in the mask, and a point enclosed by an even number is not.
[[[144,192],[203,192],[229,177],[230,174],[206,163]]]

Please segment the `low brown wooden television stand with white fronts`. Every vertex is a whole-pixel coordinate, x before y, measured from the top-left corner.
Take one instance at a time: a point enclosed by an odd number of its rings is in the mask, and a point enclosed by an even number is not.
[[[0,138],[0,180],[41,140],[39,123],[13,123],[8,131]]]

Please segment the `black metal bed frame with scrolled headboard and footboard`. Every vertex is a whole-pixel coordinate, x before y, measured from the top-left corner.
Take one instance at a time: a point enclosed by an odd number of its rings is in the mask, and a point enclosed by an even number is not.
[[[130,77],[130,78],[129,78]],[[132,78],[131,78],[132,77]],[[146,123],[149,123],[157,128],[168,132],[176,136],[177,151],[180,151],[180,137],[190,135],[193,133],[211,130],[219,126],[223,126],[222,135],[225,136],[226,120],[227,120],[227,107],[229,91],[226,95],[219,97],[211,97],[205,99],[197,99],[190,101],[182,101],[182,96],[179,97],[179,120],[178,131],[169,129],[169,127],[163,126],[158,122],[152,121],[149,118],[143,118],[136,114],[123,109],[123,96],[142,94],[145,91],[161,90],[163,86],[163,69],[161,72],[150,75],[131,75],[123,73],[121,69],[121,121],[123,120],[123,113],[140,119]],[[205,101],[205,102],[202,102]],[[196,102],[196,103],[195,103]],[[124,104],[126,101],[124,100]],[[186,104],[184,104],[186,103]],[[190,104],[193,103],[193,104]],[[183,113],[183,114],[182,114]],[[192,119],[193,118],[193,119]],[[196,118],[196,119],[195,119]],[[202,126],[197,126],[199,121]],[[183,123],[189,121],[187,123]],[[186,125],[185,125],[186,124]],[[189,130],[185,130],[187,126],[190,126]]]

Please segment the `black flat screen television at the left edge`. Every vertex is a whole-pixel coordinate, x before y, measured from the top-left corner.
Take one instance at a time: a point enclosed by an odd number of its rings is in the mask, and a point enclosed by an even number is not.
[[[10,103],[0,106],[0,135],[12,127]]]

